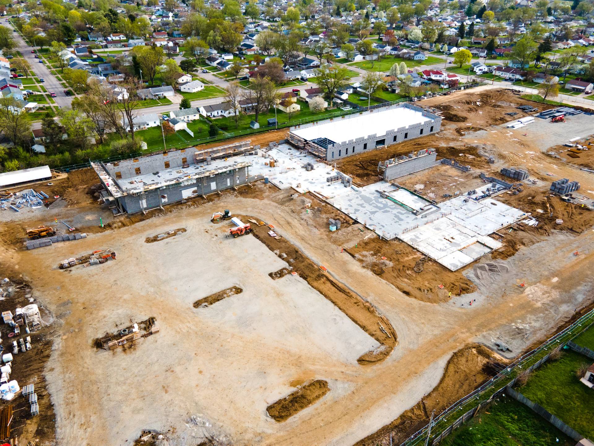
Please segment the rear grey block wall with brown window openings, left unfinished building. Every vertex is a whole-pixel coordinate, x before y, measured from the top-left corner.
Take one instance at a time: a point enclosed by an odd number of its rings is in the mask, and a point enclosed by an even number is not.
[[[136,168],[140,168],[140,175],[150,174],[152,172],[160,172],[165,170],[165,161],[169,162],[169,168],[181,168],[182,159],[186,158],[188,164],[194,164],[194,153],[196,150],[191,147],[189,149],[172,150],[164,153],[155,153],[154,155],[141,156],[140,158],[125,159],[114,163],[106,163],[104,165],[108,174],[115,178],[115,172],[120,172],[122,179],[136,177]],[[134,160],[138,161],[134,161]]]

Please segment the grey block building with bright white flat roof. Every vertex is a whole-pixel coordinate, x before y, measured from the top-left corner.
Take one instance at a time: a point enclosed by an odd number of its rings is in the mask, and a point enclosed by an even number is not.
[[[441,117],[403,103],[290,128],[287,142],[326,161],[437,133]]]

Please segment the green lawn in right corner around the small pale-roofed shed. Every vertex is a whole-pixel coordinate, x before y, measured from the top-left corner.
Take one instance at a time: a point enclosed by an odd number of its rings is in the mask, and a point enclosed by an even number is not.
[[[564,351],[560,359],[536,370],[519,391],[586,438],[594,438],[594,394],[576,376],[580,366],[591,363],[586,356]]]

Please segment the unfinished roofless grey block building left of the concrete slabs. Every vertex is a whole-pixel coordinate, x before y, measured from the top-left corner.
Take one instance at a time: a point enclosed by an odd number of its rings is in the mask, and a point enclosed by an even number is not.
[[[119,162],[91,162],[114,215],[146,212],[248,182],[249,162],[226,161],[253,150],[251,141],[211,149],[172,150]]]

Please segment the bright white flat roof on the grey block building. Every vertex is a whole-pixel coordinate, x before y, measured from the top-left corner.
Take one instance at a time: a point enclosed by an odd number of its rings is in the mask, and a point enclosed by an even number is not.
[[[407,107],[397,107],[382,111],[376,110],[363,115],[348,115],[344,119],[335,118],[334,121],[326,121],[311,127],[292,130],[292,133],[309,141],[317,138],[327,138],[342,143],[373,134],[384,136],[389,130],[409,127],[414,124],[424,124],[428,121],[433,120],[424,117],[420,111]]]

